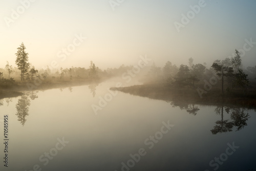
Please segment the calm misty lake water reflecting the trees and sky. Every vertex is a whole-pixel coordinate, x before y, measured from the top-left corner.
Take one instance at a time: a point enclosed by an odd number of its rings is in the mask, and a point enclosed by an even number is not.
[[[254,110],[112,95],[116,82],[1,99],[5,170],[256,170]]]

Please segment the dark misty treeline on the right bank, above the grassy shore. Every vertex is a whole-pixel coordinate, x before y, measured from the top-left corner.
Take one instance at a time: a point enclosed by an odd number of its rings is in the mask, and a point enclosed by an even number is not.
[[[241,54],[236,50],[234,57],[215,60],[210,68],[206,63],[194,63],[189,58],[188,65],[172,65],[167,61],[163,68],[155,63],[144,79],[144,83],[164,83],[169,87],[196,89],[200,96],[213,86],[225,92],[238,92],[253,89],[256,79],[256,66],[244,68]]]

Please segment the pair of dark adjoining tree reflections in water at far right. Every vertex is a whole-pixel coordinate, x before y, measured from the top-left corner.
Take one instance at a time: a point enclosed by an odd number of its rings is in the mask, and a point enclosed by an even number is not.
[[[225,111],[227,114],[230,112],[230,118],[232,121],[228,122],[228,120],[223,120],[223,105],[218,106],[215,109],[217,115],[221,115],[221,120],[216,121],[216,125],[214,129],[211,130],[212,134],[231,132],[233,126],[237,126],[237,130],[239,131],[247,125],[246,121],[250,118],[248,113],[245,113],[244,108],[229,108],[225,107]]]

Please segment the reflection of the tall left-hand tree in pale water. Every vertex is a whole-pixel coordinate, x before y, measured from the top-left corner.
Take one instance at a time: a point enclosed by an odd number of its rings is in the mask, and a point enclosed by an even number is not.
[[[18,99],[18,102],[16,104],[18,121],[22,123],[24,126],[26,119],[25,117],[29,115],[29,106],[30,106],[30,100],[27,95],[22,95],[20,99]]]

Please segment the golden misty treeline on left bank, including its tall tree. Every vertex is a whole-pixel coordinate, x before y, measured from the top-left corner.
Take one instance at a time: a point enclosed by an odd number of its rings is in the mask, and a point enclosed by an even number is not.
[[[44,69],[36,69],[32,63],[29,62],[29,54],[26,52],[24,43],[17,48],[15,53],[16,66],[9,65],[7,61],[4,69],[0,68],[0,88],[18,87],[20,84],[33,83],[36,80],[40,81],[97,81],[108,79],[115,76],[120,76],[127,70],[131,70],[133,66],[120,66],[119,68],[108,68],[101,70],[93,61],[91,61],[88,68],[71,67],[52,69],[47,66]]]

